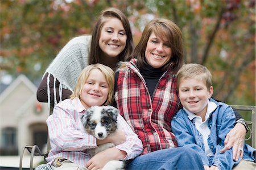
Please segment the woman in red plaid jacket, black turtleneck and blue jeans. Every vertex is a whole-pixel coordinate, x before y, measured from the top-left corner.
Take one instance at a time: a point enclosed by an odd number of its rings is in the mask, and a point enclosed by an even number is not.
[[[142,155],[127,169],[204,169],[201,158],[189,146],[176,148],[171,132],[172,117],[181,107],[176,92],[176,73],[184,62],[179,27],[167,19],[152,20],[133,56],[137,59],[123,63],[115,75],[117,107],[143,143]],[[243,140],[246,130],[241,127],[235,127],[235,133]],[[237,141],[230,143],[234,147]]]

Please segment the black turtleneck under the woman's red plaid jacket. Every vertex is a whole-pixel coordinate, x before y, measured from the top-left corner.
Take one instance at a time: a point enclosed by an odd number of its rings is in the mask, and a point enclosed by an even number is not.
[[[163,68],[154,68],[149,64],[145,64],[144,67],[141,69],[142,77],[146,81],[148,91],[152,98],[153,93],[155,91],[155,86],[158,83],[159,78],[163,75],[165,71],[162,70]]]

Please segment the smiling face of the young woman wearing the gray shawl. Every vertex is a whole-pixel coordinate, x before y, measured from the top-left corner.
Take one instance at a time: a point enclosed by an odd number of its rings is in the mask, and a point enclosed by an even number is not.
[[[126,46],[126,32],[121,20],[108,18],[101,29],[98,44],[109,57],[117,57]]]

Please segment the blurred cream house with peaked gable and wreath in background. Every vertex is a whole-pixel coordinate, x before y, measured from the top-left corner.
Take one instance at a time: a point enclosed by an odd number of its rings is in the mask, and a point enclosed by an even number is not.
[[[49,109],[37,101],[36,90],[20,75],[0,94],[0,155],[19,155],[25,145],[46,147]]]

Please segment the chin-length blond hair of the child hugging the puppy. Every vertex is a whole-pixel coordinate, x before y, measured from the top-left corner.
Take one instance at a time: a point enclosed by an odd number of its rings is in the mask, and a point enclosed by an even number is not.
[[[114,74],[115,73],[110,67],[100,64],[100,63],[90,64],[87,67],[85,67],[84,69],[82,69],[82,71],[77,79],[74,92],[71,94],[71,96],[69,98],[70,99],[74,99],[76,97],[80,98],[82,87],[84,86],[86,80],[90,76],[90,72],[93,69],[99,69],[104,74],[104,77],[106,78],[106,82],[108,83],[108,86],[109,86],[108,98],[105,102],[105,105],[112,104],[113,99],[114,99]]]

